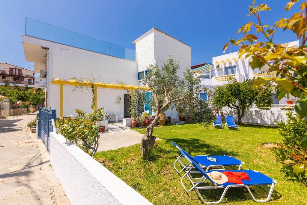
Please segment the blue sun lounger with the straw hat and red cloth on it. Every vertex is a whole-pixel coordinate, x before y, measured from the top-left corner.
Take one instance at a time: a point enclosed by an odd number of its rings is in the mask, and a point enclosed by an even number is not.
[[[183,186],[183,188],[185,189],[185,191],[189,192],[189,191],[192,191],[192,190],[195,190],[196,193],[199,195],[200,199],[205,203],[205,204],[216,204],[216,203],[220,203],[227,190],[230,188],[230,187],[246,187],[248,192],[251,194],[251,197],[256,201],[256,202],[267,202],[270,200],[271,198],[271,195],[272,195],[272,192],[273,192],[273,189],[274,189],[274,185],[277,183],[277,181],[275,181],[274,179],[271,179],[270,177],[262,174],[261,172],[258,172],[258,171],[254,171],[254,170],[222,170],[222,169],[218,169],[218,170],[210,170],[210,171],[204,171],[194,160],[192,160],[188,155],[186,155],[186,153],[184,151],[180,151],[181,155],[183,155],[193,166],[193,168],[196,168],[200,173],[202,174],[203,176],[201,178],[198,178],[200,179],[199,181],[197,182],[193,182],[192,179],[190,178],[190,173],[192,172],[192,168],[189,168],[187,171],[185,171],[185,175],[182,176],[181,178],[181,184]],[[235,184],[235,183],[230,183],[230,182],[226,182],[226,183],[223,183],[223,184],[218,184],[218,183],[215,183],[213,182],[209,176],[208,176],[208,173],[210,173],[211,171],[242,171],[242,172],[245,172],[248,174],[249,178],[251,180],[242,180],[243,184]],[[191,184],[192,184],[192,188],[190,189],[187,189],[183,183],[183,179],[185,177],[188,177],[188,179],[190,180]],[[206,180],[209,180],[213,186],[200,186],[201,183],[205,183]],[[270,191],[269,191],[269,194],[267,196],[266,199],[256,199],[255,196],[253,195],[253,193],[251,192],[250,190],[250,187],[251,186],[259,186],[259,185],[267,185],[268,187],[270,187]],[[220,200],[218,201],[215,201],[215,202],[206,202],[204,200],[204,198],[202,197],[202,195],[200,194],[199,190],[207,190],[207,189],[218,189],[218,188],[223,188],[224,191],[221,195],[221,198]]]

